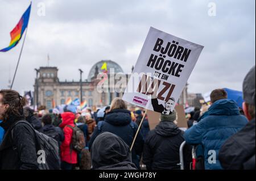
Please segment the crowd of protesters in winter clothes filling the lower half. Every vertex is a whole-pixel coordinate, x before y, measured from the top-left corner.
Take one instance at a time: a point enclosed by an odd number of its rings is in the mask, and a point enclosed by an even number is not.
[[[94,112],[66,108],[63,113],[39,113],[18,92],[1,90],[0,169],[39,169],[43,141],[58,148],[48,152],[59,159],[46,159],[48,168],[54,164],[63,170],[179,170],[184,141],[184,169],[255,169],[255,66],[243,81],[243,99],[239,108],[225,90],[216,89],[210,106],[189,113],[187,130],[177,127],[175,110],[162,113],[150,130],[143,108],[129,110],[120,98]]]

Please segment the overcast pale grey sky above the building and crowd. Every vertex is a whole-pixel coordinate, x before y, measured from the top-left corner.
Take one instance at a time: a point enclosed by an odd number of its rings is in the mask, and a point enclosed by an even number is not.
[[[209,16],[209,2],[216,16]],[[42,14],[42,3],[46,7]],[[0,0],[0,49],[27,9],[27,0]],[[242,90],[242,80],[255,65],[254,0],[42,0],[32,1],[27,39],[13,89],[34,90],[35,68],[57,66],[61,81],[84,79],[100,60],[113,60],[129,73],[150,26],[204,45],[188,79],[188,92],[228,87]],[[0,52],[0,89],[12,79],[22,42]],[[10,71],[9,71],[10,70]]]

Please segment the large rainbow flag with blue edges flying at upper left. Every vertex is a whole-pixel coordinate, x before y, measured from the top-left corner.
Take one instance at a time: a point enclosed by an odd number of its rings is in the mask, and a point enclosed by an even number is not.
[[[11,42],[9,44],[9,47],[1,49],[0,52],[7,52],[10,49],[14,48],[19,43],[19,40],[22,38],[22,35],[27,28],[28,20],[30,19],[30,9],[31,9],[31,4],[30,6],[28,6],[27,10],[24,12],[24,14],[22,15],[22,18],[20,18],[19,23],[15,26],[13,31],[10,32]]]

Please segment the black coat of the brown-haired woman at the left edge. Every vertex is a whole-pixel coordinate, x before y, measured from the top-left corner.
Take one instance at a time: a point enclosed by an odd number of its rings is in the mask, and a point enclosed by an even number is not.
[[[0,170],[38,169],[36,138],[34,130],[24,121],[24,117],[12,117],[1,123],[5,137],[0,146]],[[13,130],[13,136],[11,136]]]

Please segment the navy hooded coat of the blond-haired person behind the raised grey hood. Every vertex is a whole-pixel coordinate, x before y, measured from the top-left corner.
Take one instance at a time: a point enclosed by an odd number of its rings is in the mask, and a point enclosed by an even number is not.
[[[98,125],[102,124],[102,121],[98,123]],[[131,126],[131,124],[133,126]],[[90,138],[89,141],[89,150],[92,147],[94,139],[100,134],[101,132],[110,132],[114,133],[117,136],[121,137],[123,141],[126,142],[126,144],[130,147],[133,138],[137,132],[138,125],[131,121],[131,113],[128,110],[112,110],[105,116],[104,124],[100,129],[98,129],[99,126],[97,126],[94,129],[93,135]],[[141,157],[143,149],[143,137],[141,132],[138,133],[138,136],[136,138],[134,148],[131,152],[133,163],[139,168],[139,159],[137,158],[137,155]]]

